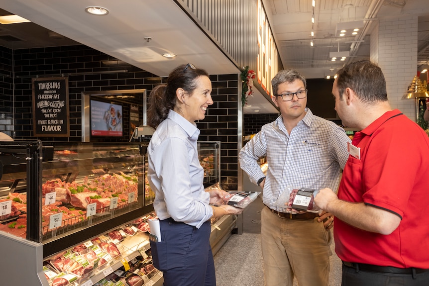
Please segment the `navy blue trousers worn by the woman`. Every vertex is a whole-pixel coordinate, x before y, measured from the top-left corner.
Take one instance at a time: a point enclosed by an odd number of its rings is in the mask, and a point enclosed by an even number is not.
[[[164,286],[215,286],[210,220],[198,229],[168,218],[160,221],[160,227],[161,242],[150,244]]]

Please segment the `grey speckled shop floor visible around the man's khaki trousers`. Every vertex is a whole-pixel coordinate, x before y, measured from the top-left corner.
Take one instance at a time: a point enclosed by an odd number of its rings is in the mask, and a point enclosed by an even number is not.
[[[341,261],[333,243],[331,249],[329,285],[340,286]],[[217,286],[264,286],[260,234],[233,234],[214,255],[214,264]]]

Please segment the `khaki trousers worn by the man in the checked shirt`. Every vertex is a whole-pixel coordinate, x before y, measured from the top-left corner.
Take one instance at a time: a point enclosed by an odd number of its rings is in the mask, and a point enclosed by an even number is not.
[[[328,286],[331,234],[315,219],[286,219],[261,212],[266,286]]]

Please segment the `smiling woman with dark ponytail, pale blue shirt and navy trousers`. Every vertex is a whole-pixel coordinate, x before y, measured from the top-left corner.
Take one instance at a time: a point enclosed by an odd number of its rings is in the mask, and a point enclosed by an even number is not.
[[[242,211],[222,204],[225,191],[204,190],[194,121],[205,118],[211,92],[207,72],[187,64],[150,94],[147,124],[156,131],[148,146],[148,181],[161,228],[161,242],[151,248],[165,286],[216,285],[210,218]]]

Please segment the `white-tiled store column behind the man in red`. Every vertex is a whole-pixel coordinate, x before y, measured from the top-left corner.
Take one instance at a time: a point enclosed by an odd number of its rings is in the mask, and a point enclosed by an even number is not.
[[[415,102],[402,99],[417,75],[418,16],[405,15],[379,20],[371,32],[370,59],[378,63],[386,78],[392,108],[416,120]]]

